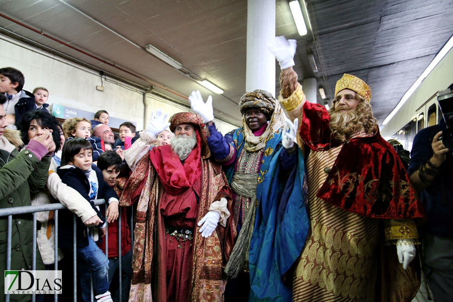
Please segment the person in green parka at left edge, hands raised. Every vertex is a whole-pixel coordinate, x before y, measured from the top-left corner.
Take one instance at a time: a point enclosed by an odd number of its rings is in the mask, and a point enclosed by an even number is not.
[[[17,132],[8,133],[6,127],[6,112],[4,104],[6,97],[0,94],[0,208],[13,209],[31,204],[30,195],[44,188],[48,176],[51,155],[55,144],[50,131],[47,130],[39,137],[30,140],[24,150],[19,152],[18,145],[22,145]],[[10,226],[12,233],[11,269],[30,270],[33,263],[33,216],[20,214],[13,216]],[[7,230],[8,216],[0,217],[0,271],[7,266]],[[11,248],[12,247],[12,248]],[[36,269],[44,269],[39,251],[36,251]],[[5,280],[1,278],[0,287],[4,287]],[[22,293],[12,294],[11,301],[30,300],[31,295]],[[5,300],[5,295],[0,295],[0,300]]]

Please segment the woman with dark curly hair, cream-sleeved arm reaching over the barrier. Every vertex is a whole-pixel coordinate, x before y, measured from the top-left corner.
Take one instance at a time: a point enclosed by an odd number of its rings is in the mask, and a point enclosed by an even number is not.
[[[46,110],[33,110],[24,114],[18,124],[21,130],[21,137],[27,145],[34,137],[40,137],[52,130],[52,137],[55,143],[55,150],[58,151],[61,147],[60,128],[58,127],[57,119]],[[76,213],[84,222],[86,226],[93,226],[99,224],[101,219],[98,218],[96,211],[91,205],[86,202],[85,198],[76,190],[68,187],[61,182],[56,172],[57,164],[55,160],[51,159],[49,167],[49,178],[46,183],[46,190],[39,191],[32,200],[32,205],[49,204],[52,203],[52,197],[61,202],[69,210]],[[48,193],[47,193],[48,192]],[[49,196],[50,195],[50,196]],[[41,229],[37,233],[37,244],[41,253],[42,260],[47,269],[53,269],[55,263],[54,257],[54,223],[53,211],[44,211],[37,213],[37,219],[42,223]],[[48,236],[50,234],[50,236]],[[71,255],[66,255],[71,256]],[[58,260],[63,258],[63,253],[58,250]],[[69,263],[69,262],[68,262]],[[70,262],[71,263],[71,262]],[[61,265],[58,266],[62,268]],[[72,265],[64,266],[64,276],[72,278]],[[66,274],[67,273],[67,274]],[[72,284],[71,282],[69,282]],[[68,284],[69,284],[68,283]],[[68,288],[65,290],[67,293],[72,293]],[[52,295],[53,299],[53,295]]]

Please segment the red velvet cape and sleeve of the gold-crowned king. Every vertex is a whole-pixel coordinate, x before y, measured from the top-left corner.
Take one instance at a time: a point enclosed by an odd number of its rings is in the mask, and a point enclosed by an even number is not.
[[[330,115],[324,106],[305,102],[300,137],[313,151],[341,143],[331,138]],[[346,211],[372,218],[424,217],[409,175],[379,130],[346,142],[317,197]]]

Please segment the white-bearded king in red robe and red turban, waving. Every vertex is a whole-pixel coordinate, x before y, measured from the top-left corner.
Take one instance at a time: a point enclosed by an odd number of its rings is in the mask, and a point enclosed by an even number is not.
[[[123,152],[120,205],[136,204],[129,301],[222,301],[233,247],[231,191],[210,160],[206,128],[189,112],[152,114]],[[170,126],[171,145],[150,146]]]

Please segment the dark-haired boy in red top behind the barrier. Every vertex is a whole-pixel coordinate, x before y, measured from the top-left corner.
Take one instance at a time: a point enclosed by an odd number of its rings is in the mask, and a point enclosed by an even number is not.
[[[122,159],[116,152],[106,151],[99,156],[98,166],[104,180],[112,187],[115,185],[116,177],[121,171]],[[127,224],[127,213],[125,207],[119,207],[121,215],[121,299],[127,301],[129,297],[130,279],[132,270],[132,252],[130,246],[130,231]],[[108,257],[109,257],[109,284],[112,283],[115,271],[119,267],[119,219],[108,223]],[[98,243],[98,246],[103,252],[106,250],[106,241]],[[112,291],[114,301],[119,301],[119,290]]]

